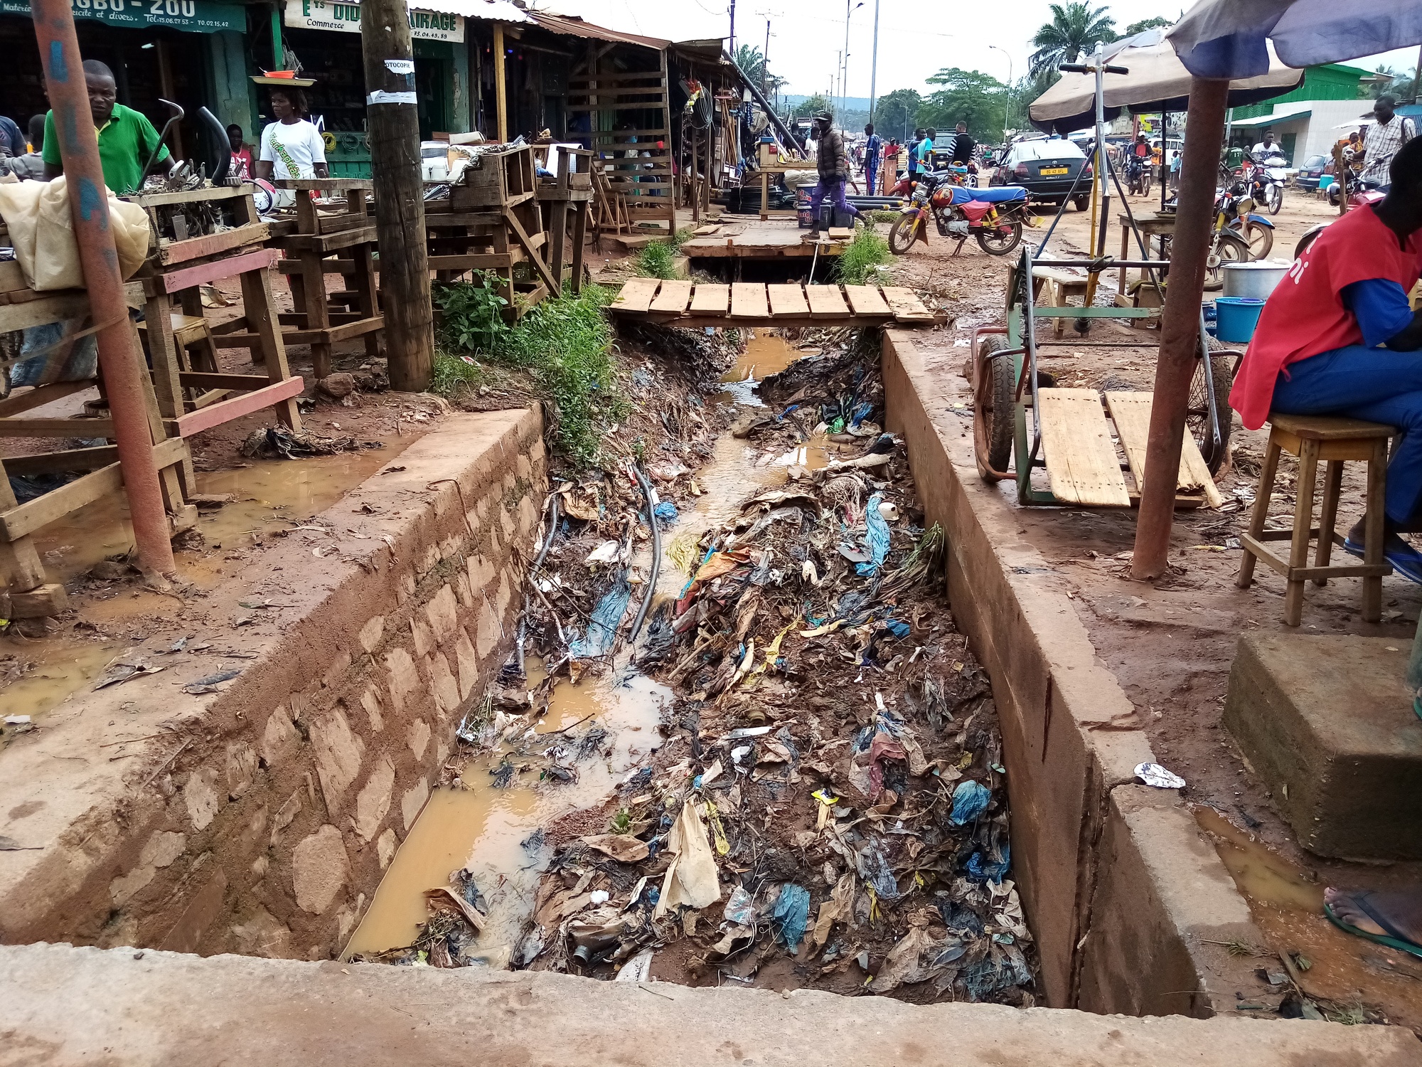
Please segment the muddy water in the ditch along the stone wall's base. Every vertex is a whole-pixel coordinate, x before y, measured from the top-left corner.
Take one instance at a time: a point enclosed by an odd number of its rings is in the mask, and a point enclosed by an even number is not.
[[[538,664],[530,660],[528,671],[533,687],[540,677]],[[489,903],[476,956],[505,966],[532,915],[539,875],[552,858],[552,848],[536,831],[567,812],[596,807],[629,771],[647,763],[661,744],[657,724],[670,700],[670,689],[636,673],[617,681],[600,677],[579,686],[559,683],[533,736],[520,733],[498,744],[465,765],[459,787],[429,795],[341,957],[414,942],[428,918],[424,891],[449,885],[451,872],[466,868]],[[582,720],[589,721],[553,736]],[[540,781],[543,751],[593,723],[607,730],[611,755],[599,753],[577,763],[574,782]],[[505,760],[528,770],[508,788],[496,788],[492,773]]]

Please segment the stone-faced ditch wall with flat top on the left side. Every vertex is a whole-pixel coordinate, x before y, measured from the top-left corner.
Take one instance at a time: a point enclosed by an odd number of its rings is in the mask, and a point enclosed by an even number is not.
[[[334,955],[512,646],[546,488],[536,411],[451,415],[323,512],[338,553],[273,542],[208,596],[282,605],[223,691],[165,671],[16,738],[0,832],[38,849],[0,854],[0,940]]]

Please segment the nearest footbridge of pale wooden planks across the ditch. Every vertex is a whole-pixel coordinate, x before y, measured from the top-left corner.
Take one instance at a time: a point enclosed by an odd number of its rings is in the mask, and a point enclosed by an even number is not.
[[[634,277],[609,310],[661,326],[933,326],[947,322],[900,286],[700,285]]]

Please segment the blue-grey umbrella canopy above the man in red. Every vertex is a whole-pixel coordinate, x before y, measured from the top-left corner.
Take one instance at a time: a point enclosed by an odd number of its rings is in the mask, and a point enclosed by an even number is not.
[[[1422,0],[1202,0],[1166,38],[1190,74],[1250,78],[1270,65],[1344,63],[1422,41]]]

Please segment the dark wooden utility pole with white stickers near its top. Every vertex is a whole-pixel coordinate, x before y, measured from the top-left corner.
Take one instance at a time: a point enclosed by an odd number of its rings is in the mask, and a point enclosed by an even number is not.
[[[424,393],[435,334],[410,16],[404,0],[365,0],[360,9],[390,384]]]

